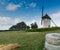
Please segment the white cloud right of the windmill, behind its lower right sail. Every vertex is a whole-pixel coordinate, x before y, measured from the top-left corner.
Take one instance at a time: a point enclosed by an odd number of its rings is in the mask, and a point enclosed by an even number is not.
[[[60,11],[59,12],[56,12],[56,13],[53,13],[53,14],[50,14],[52,20],[54,21],[54,23],[57,25],[57,26],[60,26]],[[55,26],[53,23],[52,23],[52,26]]]

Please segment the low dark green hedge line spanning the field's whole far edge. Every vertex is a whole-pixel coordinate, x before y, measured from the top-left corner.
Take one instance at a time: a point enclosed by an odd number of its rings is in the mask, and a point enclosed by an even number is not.
[[[60,27],[38,28],[38,29],[27,29],[27,30],[0,30],[0,32],[6,32],[6,31],[45,32],[45,31],[57,31],[57,30],[60,30]]]

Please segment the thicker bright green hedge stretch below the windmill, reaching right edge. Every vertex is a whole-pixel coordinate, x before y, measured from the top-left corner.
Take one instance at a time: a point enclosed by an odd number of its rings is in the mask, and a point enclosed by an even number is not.
[[[51,27],[51,28],[39,28],[39,29],[29,29],[27,32],[44,32],[44,31],[57,31],[60,30],[60,27]]]

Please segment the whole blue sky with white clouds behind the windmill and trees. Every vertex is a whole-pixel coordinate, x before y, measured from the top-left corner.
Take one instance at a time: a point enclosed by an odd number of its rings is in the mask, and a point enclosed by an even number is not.
[[[8,30],[21,21],[29,26],[37,22],[40,28],[42,5],[44,15],[47,13],[60,26],[60,0],[0,0],[0,30]]]

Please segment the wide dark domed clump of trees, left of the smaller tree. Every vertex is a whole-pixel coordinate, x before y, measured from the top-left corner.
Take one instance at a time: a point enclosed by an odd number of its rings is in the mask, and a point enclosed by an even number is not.
[[[16,25],[13,25],[12,27],[10,27],[9,30],[26,30],[26,29],[30,29],[30,27],[27,26],[25,24],[25,22],[20,22],[20,23],[17,23]]]

